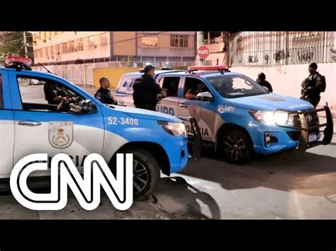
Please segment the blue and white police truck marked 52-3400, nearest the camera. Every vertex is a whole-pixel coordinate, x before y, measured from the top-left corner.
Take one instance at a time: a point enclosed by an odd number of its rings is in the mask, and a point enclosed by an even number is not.
[[[189,154],[186,127],[177,117],[104,105],[60,76],[31,70],[28,58],[7,57],[6,64],[0,67],[1,181],[8,181],[13,165],[32,153],[48,153],[49,158],[67,153],[80,171],[89,153],[101,154],[113,170],[116,153],[133,153],[134,195],[143,198],[155,189],[160,170],[170,175],[199,157]],[[44,89],[26,87],[29,81],[56,85],[67,98],[48,104]],[[65,101],[70,102],[66,110]],[[191,124],[198,136],[192,118]]]

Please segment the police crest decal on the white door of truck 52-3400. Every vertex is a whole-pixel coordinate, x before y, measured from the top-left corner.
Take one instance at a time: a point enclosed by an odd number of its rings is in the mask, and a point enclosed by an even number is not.
[[[74,140],[73,122],[49,122],[49,142],[57,149],[71,146]]]

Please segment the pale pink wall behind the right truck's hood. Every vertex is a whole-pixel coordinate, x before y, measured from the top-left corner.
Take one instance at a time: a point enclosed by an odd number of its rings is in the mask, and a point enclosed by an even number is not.
[[[257,79],[260,72],[264,72],[267,81],[271,83],[274,93],[300,97],[301,83],[308,73],[308,64],[295,64],[269,67],[232,67],[230,71],[240,72],[252,79]],[[321,93],[320,105],[325,102],[336,113],[336,63],[318,64],[318,71],[325,76],[327,88]]]

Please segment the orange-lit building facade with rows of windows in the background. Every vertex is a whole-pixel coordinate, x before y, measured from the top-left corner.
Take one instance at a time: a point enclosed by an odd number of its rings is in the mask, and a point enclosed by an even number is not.
[[[195,32],[32,32],[35,62],[194,61]]]

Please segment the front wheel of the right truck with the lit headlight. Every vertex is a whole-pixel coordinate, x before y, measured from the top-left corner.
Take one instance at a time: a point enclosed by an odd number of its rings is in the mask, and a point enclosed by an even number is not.
[[[222,138],[221,153],[228,163],[243,164],[250,160],[252,146],[245,132],[231,129]]]

